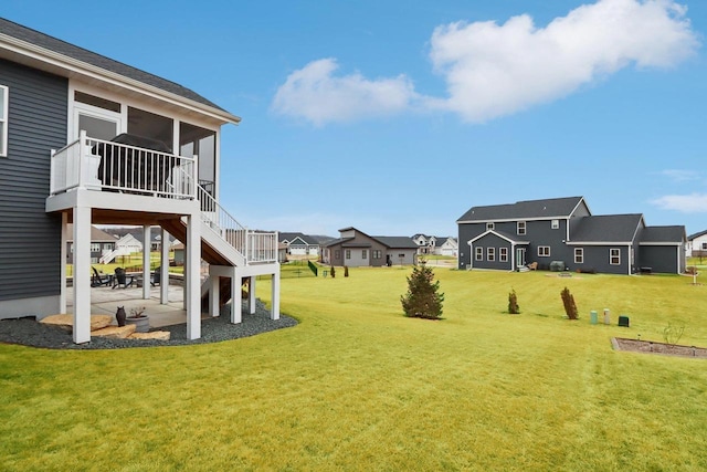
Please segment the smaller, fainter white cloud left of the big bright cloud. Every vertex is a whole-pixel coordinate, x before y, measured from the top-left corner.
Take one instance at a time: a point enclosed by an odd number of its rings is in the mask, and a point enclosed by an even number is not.
[[[277,90],[273,108],[319,126],[404,111],[414,87],[404,75],[370,81],[356,73],[335,76],[336,60],[321,59],[293,72]]]

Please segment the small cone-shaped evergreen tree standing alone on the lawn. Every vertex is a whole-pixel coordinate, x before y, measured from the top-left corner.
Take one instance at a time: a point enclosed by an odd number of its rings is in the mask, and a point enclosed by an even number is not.
[[[434,281],[432,269],[424,261],[412,269],[408,277],[408,293],[400,296],[405,316],[440,319],[444,294],[440,293],[440,281]]]

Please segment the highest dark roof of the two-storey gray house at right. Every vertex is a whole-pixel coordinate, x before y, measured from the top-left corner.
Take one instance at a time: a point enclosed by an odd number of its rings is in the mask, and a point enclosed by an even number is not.
[[[582,200],[583,197],[566,197],[472,207],[456,222],[569,217]]]

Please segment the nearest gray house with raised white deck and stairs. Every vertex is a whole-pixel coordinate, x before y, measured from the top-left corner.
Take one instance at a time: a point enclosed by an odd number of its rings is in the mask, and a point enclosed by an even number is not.
[[[159,225],[186,244],[189,339],[201,336],[202,260],[212,315],[220,281],[240,323],[243,277],[254,287],[270,275],[277,318],[277,234],[241,227],[218,200],[221,126],[239,122],[176,82],[0,18],[0,318],[66,313],[73,239],[74,274],[85,276],[73,281],[72,336],[91,340],[92,224],[140,225],[144,247]],[[163,284],[162,303],[168,295]]]

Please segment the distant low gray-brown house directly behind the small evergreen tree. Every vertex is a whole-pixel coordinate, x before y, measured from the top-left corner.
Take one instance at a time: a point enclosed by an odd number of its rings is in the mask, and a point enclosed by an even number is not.
[[[418,262],[418,244],[409,237],[371,237],[352,227],[339,233],[339,239],[323,248],[321,262],[327,265],[380,268]]]

